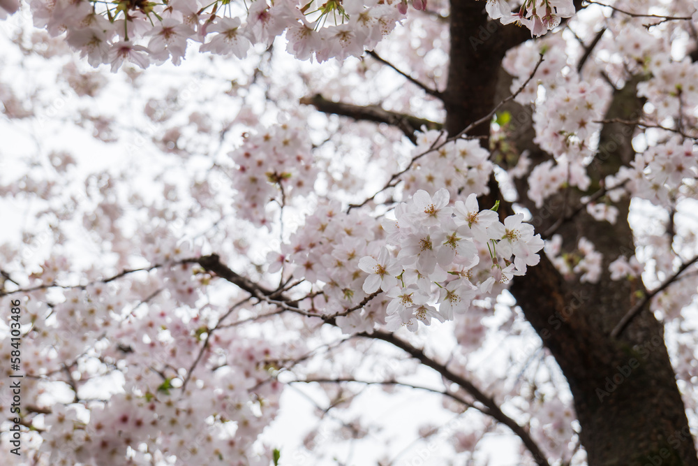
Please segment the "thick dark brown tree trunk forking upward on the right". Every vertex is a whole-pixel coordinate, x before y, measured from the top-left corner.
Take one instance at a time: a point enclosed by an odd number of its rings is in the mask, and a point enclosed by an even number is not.
[[[451,61],[444,95],[445,128],[453,135],[487,115],[501,100],[496,96],[501,59],[508,48],[526,40],[522,32],[528,31],[488,22],[484,2],[451,3]],[[637,82],[630,80],[614,94],[607,117],[637,119],[642,108],[635,92]],[[533,144],[530,110],[516,103],[509,105],[512,115],[528,115],[525,121],[519,120],[522,127],[514,141],[519,150],[530,150],[534,165],[549,159],[549,154]],[[512,118],[512,122],[516,120]],[[604,126],[599,151],[603,160],[589,169],[593,178],[590,192],[573,193],[567,203],[551,198],[536,209],[522,189],[524,180],[519,186],[519,203],[533,214],[538,233],[569,213],[574,201],[578,203],[581,196],[598,189],[604,176],[630,161],[632,130],[618,124]],[[476,128],[475,133],[489,135],[489,123]],[[484,144],[487,147],[489,143]],[[481,205],[500,198],[496,182],[490,186],[492,192]],[[500,201],[505,214],[509,206]],[[541,254],[540,264],[516,277],[510,291],[567,378],[590,465],[698,466],[662,324],[644,310],[617,338],[609,335],[634,304],[634,293],[644,291],[636,289],[641,284],[609,278],[611,261],[634,254],[629,201],[616,207],[620,212],[615,225],[595,221],[583,211],[558,230],[565,247],[574,249],[584,236],[604,255],[604,272],[598,284],[580,283],[578,277],[565,279]]]

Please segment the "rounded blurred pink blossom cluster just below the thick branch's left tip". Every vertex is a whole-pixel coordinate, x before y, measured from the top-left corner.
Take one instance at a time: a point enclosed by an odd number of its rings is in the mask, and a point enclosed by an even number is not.
[[[269,201],[276,199],[283,205],[292,196],[313,191],[318,168],[306,135],[299,122],[260,127],[228,154],[237,166],[230,177],[240,217],[262,226],[268,221],[265,205]]]

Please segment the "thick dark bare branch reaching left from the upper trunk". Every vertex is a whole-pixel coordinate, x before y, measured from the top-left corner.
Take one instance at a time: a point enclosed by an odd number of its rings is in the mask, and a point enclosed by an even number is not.
[[[385,110],[380,105],[353,105],[351,103],[334,102],[325,99],[321,94],[306,96],[300,99],[303,105],[313,105],[320,112],[334,113],[343,117],[350,117],[355,120],[364,120],[374,123],[385,123],[396,126],[413,143],[417,143],[415,132],[420,131],[422,126],[427,129],[441,129],[442,124],[432,122],[429,119],[417,118],[406,113],[391,112]]]

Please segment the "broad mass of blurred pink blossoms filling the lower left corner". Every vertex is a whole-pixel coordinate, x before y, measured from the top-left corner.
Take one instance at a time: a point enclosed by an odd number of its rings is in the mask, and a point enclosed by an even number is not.
[[[268,465],[272,452],[253,444],[279,407],[282,386],[269,368],[281,358],[280,349],[235,328],[219,330],[202,353],[200,370],[189,374],[209,331],[200,316],[159,304],[145,314],[138,306],[124,309],[131,291],[158,285],[134,282],[129,291],[98,282],[66,289],[51,305],[56,296],[34,293],[22,337],[29,376],[22,393],[41,413],[34,418],[43,439],[38,451],[52,465],[126,464],[127,456],[128,464],[165,464],[173,455],[197,465]],[[0,340],[0,349],[8,344]],[[80,370],[84,384],[107,375],[107,367],[123,376],[114,384],[117,394],[82,400],[80,386],[80,402],[64,405],[47,397],[56,391],[52,374],[66,373],[73,381],[71,374]],[[0,397],[3,409],[5,402]]]

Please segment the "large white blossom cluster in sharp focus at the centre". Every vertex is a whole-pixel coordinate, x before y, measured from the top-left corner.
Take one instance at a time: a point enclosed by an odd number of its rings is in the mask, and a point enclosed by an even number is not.
[[[322,305],[325,315],[339,315],[337,323],[348,333],[372,330],[383,316],[389,330],[452,320],[473,298],[537,264],[543,247],[533,226],[521,223],[523,214],[502,224],[493,210],[480,210],[475,194],[450,205],[446,189],[433,197],[419,190],[378,232],[366,228],[368,217],[337,207],[322,207],[310,217],[282,249],[281,261],[293,264],[295,277],[324,284],[313,308]],[[483,252],[487,259],[476,268]],[[371,300],[361,312],[346,315],[381,291],[383,302]]]

